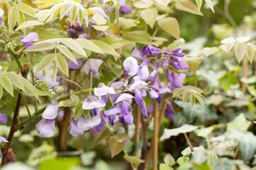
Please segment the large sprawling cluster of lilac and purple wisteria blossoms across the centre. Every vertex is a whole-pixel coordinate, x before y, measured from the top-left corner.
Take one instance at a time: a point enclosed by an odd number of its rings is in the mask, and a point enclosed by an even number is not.
[[[73,136],[81,136],[84,131],[101,131],[107,123],[111,126],[115,122],[123,122],[128,125],[133,123],[132,102],[134,101],[141,110],[143,116],[148,116],[153,109],[153,105],[148,108],[144,101],[147,95],[156,99],[159,103],[163,94],[172,93],[173,88],[182,87],[185,77],[183,73],[177,74],[168,68],[172,66],[176,70],[185,70],[189,66],[181,58],[184,56],[180,48],[175,50],[166,49],[164,53],[160,48],[148,45],[139,51],[133,50],[132,56],[123,62],[125,81],[112,82],[109,86],[99,83],[93,88],[93,94],[84,99],[82,108],[90,114],[72,117],[68,131]],[[160,58],[160,59],[158,59]],[[139,60],[139,61],[138,61]],[[92,77],[99,76],[99,67],[102,65],[101,59],[88,59],[83,65],[82,59],[78,59],[78,64],[68,61],[70,70],[80,70]],[[139,64],[140,63],[140,64]],[[151,72],[151,66],[154,68]],[[82,66],[83,65],[83,66]],[[148,69],[149,68],[149,69]],[[166,69],[166,77],[170,82],[169,87],[160,84],[157,72]],[[105,110],[106,104],[110,102],[112,107]],[[171,103],[167,103],[166,117],[172,120],[174,113]],[[55,118],[58,116],[58,102],[52,100],[43,113],[43,119],[37,124],[37,132],[44,137],[50,137],[55,133]]]

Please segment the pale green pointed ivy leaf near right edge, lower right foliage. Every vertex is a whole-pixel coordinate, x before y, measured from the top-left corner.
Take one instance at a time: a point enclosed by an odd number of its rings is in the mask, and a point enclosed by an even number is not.
[[[231,130],[239,130],[245,133],[251,124],[252,122],[247,121],[244,114],[241,113],[232,122],[227,124],[227,131],[230,132]]]

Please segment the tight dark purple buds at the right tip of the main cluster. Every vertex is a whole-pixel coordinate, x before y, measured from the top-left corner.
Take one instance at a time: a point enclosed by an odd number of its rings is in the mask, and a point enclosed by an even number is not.
[[[166,67],[167,64],[172,65],[177,70],[186,70],[189,68],[189,65],[183,61],[182,58],[185,54],[179,52],[181,48],[174,50],[166,49],[164,53],[164,59],[161,63],[163,67]]]

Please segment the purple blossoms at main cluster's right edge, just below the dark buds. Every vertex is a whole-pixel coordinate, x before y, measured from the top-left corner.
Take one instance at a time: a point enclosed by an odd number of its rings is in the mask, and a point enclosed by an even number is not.
[[[168,82],[171,82],[171,87],[173,88],[182,88],[183,87],[183,79],[186,77],[184,73],[175,73],[170,70],[166,71],[166,77]]]

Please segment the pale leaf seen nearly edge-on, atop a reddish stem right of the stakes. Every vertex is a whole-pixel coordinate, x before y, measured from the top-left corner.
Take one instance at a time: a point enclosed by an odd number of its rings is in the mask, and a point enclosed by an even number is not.
[[[190,133],[195,131],[198,127],[193,125],[184,124],[182,127],[166,129],[164,130],[163,135],[160,137],[160,140],[169,139],[172,136],[177,136],[179,133]]]

